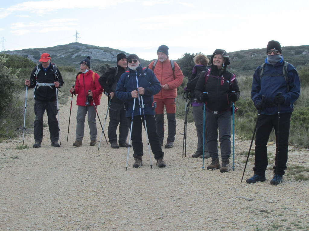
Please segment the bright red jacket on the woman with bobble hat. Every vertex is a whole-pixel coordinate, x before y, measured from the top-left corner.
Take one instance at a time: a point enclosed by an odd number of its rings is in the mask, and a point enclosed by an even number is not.
[[[75,94],[77,94],[76,105],[86,106],[86,96],[88,95],[88,90],[92,91],[92,99],[94,99],[95,105],[100,105],[100,95],[103,92],[103,88],[99,83],[99,75],[95,74],[95,81],[93,82],[93,71],[89,70],[86,74],[81,73],[78,79],[76,77],[75,81]],[[72,93],[72,92],[71,92]],[[89,102],[90,105],[93,105],[93,101]]]

